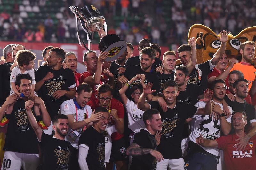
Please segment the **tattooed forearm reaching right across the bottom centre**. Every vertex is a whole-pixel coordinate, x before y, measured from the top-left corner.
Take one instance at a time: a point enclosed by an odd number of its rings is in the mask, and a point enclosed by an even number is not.
[[[127,148],[126,154],[127,155],[145,155],[150,153],[153,157],[157,159],[158,162],[161,160],[164,160],[162,154],[156,150],[150,149],[150,148],[141,148],[140,145],[136,143],[132,143],[129,148]]]

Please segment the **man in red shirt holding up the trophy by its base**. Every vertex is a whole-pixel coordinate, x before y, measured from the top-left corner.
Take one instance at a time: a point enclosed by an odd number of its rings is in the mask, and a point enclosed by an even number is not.
[[[87,71],[81,74],[80,83],[85,82],[91,86],[91,100],[97,97],[97,88],[101,84],[107,83],[108,76],[113,77],[109,69],[104,69],[102,72],[103,63],[107,57],[108,52],[101,52],[99,58],[97,57],[96,51],[89,50],[84,53],[83,60]]]

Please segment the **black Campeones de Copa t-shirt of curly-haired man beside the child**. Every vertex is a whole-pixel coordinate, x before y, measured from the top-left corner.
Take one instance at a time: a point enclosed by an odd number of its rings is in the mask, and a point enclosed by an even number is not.
[[[53,78],[44,82],[38,91],[38,96],[44,100],[46,109],[52,119],[58,114],[60,105],[68,100],[68,97],[65,95],[55,99],[52,97],[52,94],[57,90],[69,90],[68,87],[75,84],[75,77],[73,71],[69,68],[63,69],[61,67],[60,70],[52,70],[48,66],[40,66],[35,73],[36,82],[43,79],[48,72],[53,73]]]

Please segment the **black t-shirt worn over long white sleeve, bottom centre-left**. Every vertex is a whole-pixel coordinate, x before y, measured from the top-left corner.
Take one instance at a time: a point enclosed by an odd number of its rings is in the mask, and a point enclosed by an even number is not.
[[[102,133],[90,127],[82,133],[78,144],[89,147],[86,162],[90,170],[105,170],[105,136]]]

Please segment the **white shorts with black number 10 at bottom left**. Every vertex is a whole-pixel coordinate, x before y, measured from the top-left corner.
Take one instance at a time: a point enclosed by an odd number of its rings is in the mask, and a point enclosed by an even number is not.
[[[1,170],[35,170],[39,166],[39,154],[5,151]]]

